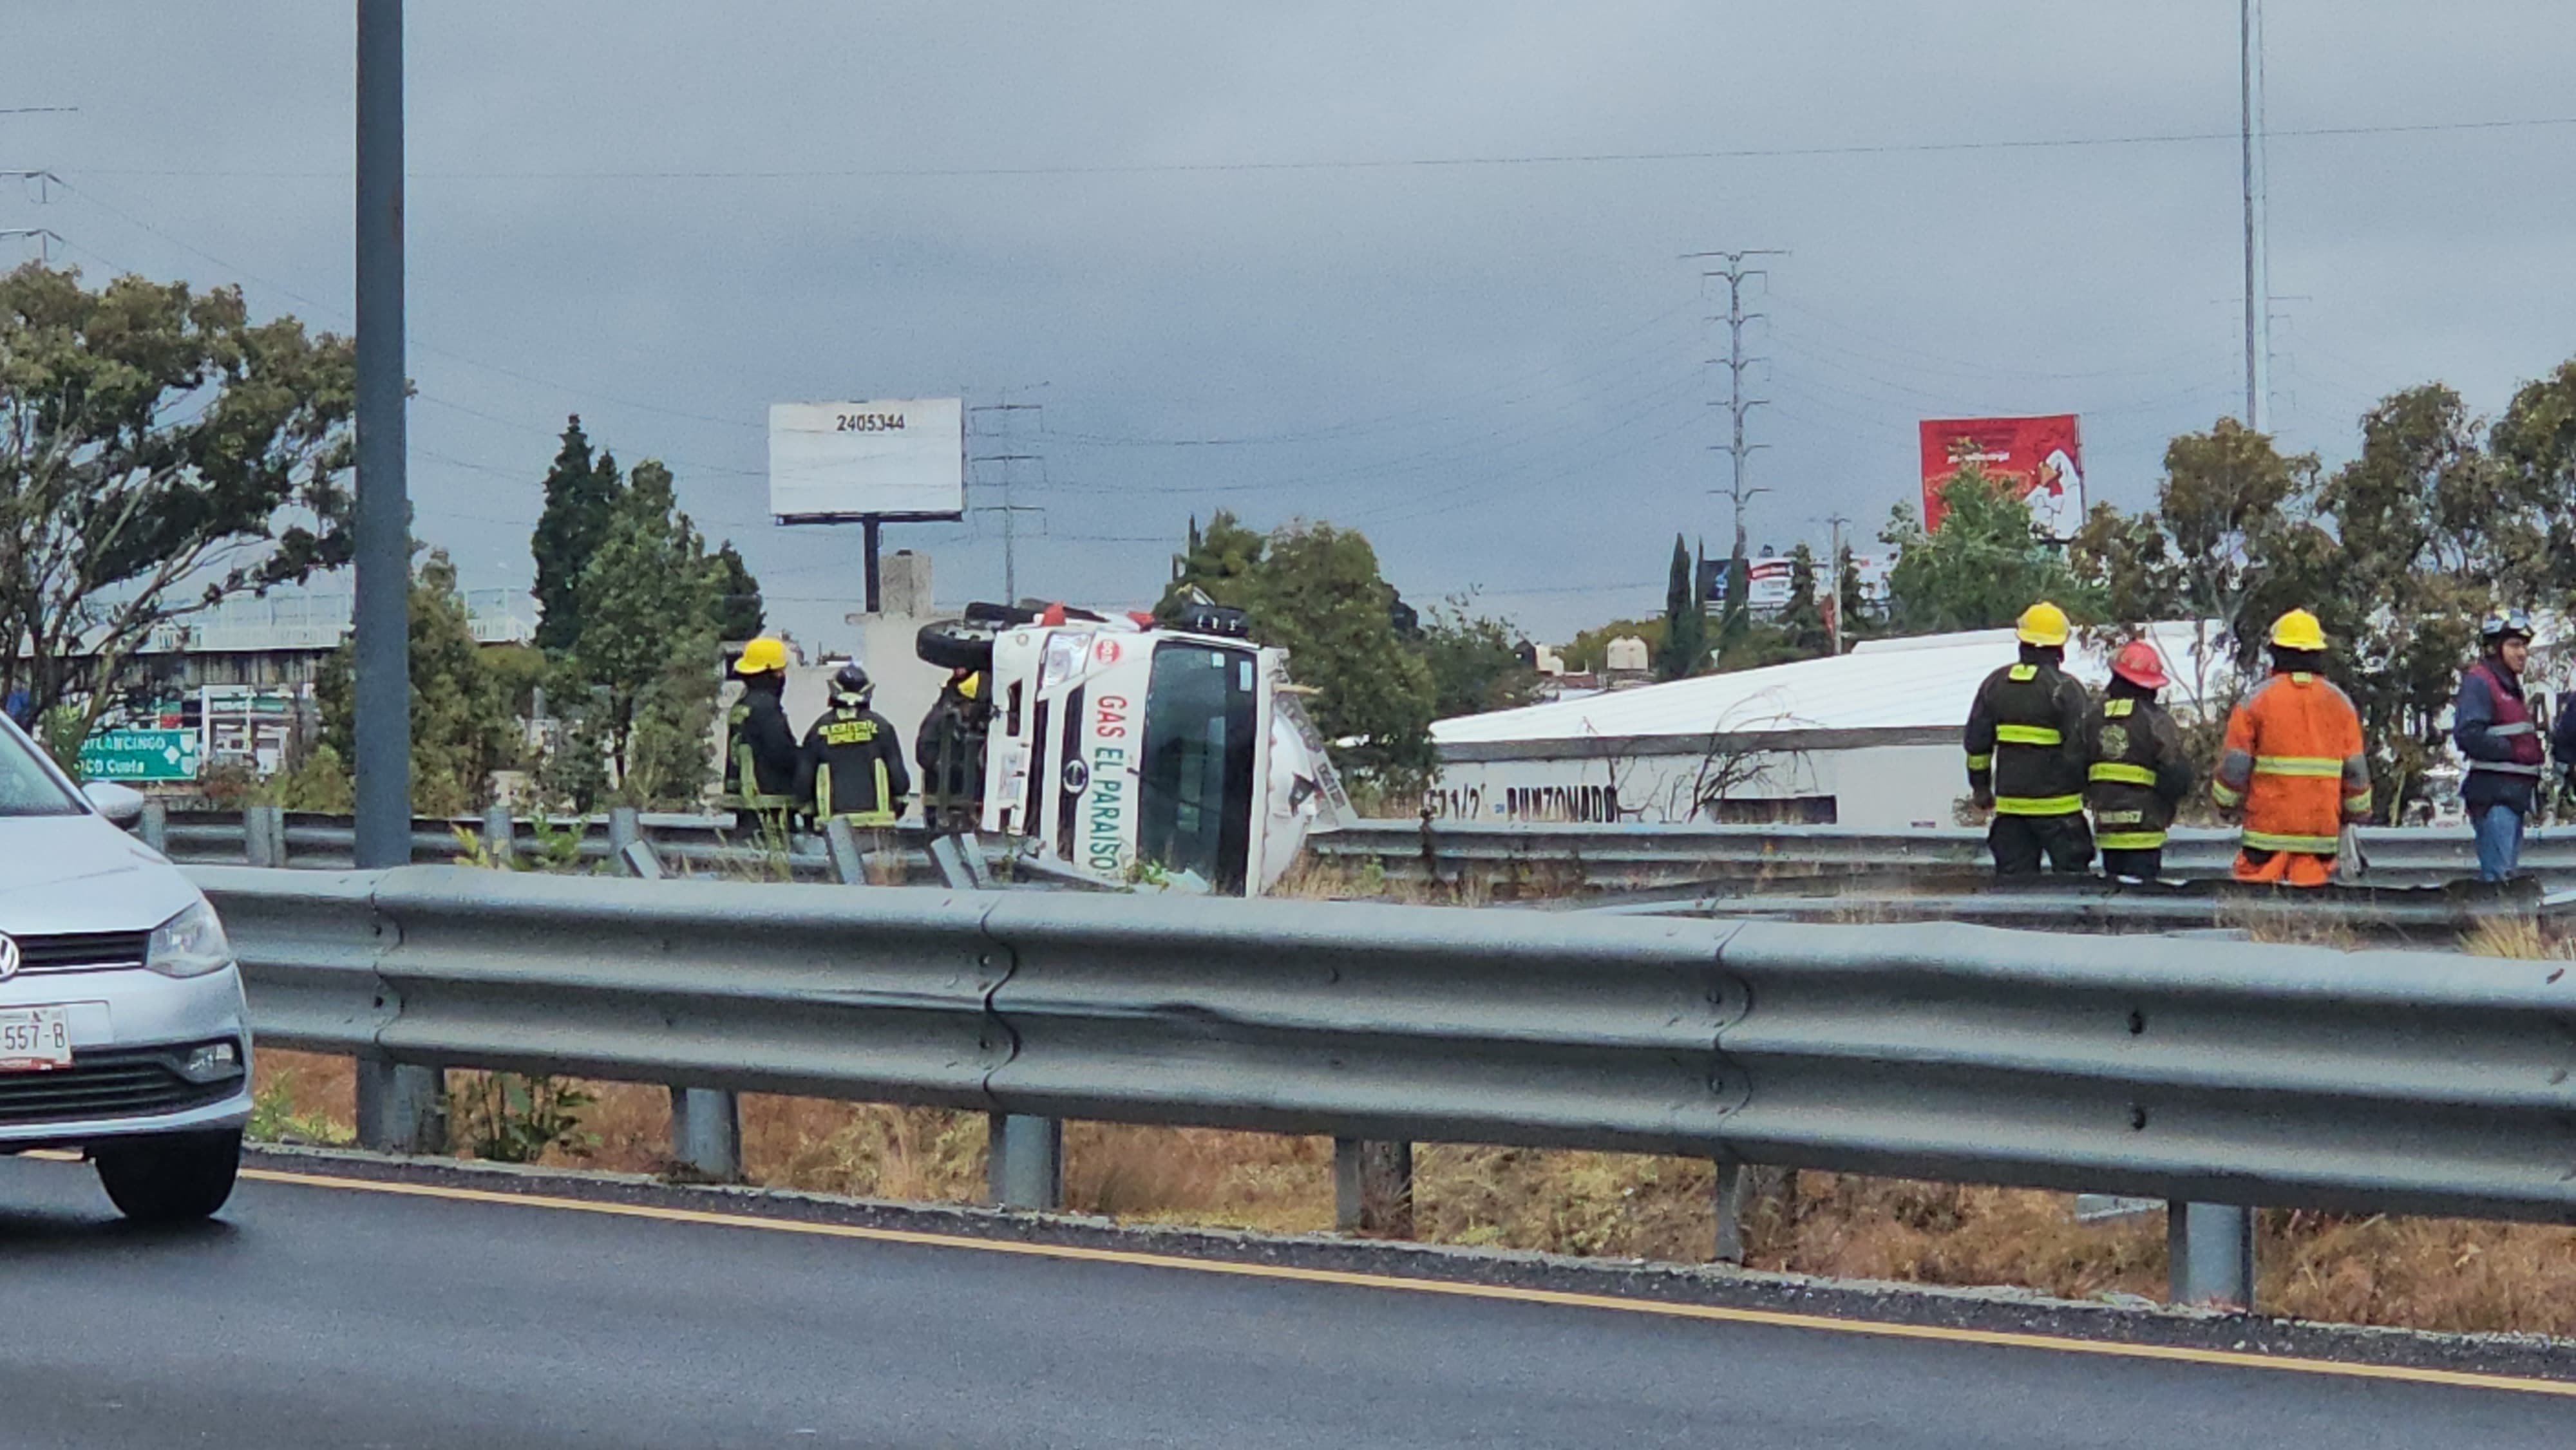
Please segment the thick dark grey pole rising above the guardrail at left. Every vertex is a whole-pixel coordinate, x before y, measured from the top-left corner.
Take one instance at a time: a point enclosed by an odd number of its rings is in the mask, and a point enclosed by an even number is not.
[[[412,860],[402,0],[358,0],[358,868]]]

